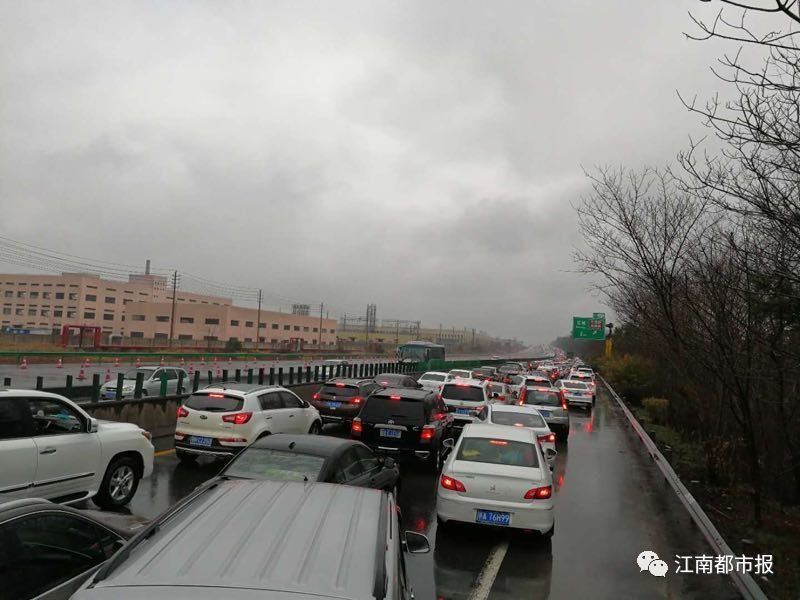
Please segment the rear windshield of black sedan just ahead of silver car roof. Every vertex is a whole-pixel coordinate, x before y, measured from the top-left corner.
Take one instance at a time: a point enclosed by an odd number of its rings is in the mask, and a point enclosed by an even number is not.
[[[247,448],[221,475],[240,479],[272,481],[316,481],[325,459],[271,448]]]

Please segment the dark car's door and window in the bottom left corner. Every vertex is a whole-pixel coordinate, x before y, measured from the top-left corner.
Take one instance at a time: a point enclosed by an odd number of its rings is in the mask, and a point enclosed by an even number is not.
[[[66,600],[124,543],[72,513],[36,512],[0,524],[3,598]]]

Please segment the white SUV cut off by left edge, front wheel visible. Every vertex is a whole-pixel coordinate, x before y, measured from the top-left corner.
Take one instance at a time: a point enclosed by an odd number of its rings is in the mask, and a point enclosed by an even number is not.
[[[63,396],[0,389],[0,461],[0,501],[115,508],[153,472],[153,445],[139,426],[99,421]]]

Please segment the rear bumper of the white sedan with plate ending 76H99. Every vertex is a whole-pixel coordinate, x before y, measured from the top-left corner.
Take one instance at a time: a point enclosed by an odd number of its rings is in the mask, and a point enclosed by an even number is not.
[[[456,492],[457,493],[457,492]],[[532,529],[545,533],[553,528],[555,511],[553,501],[533,500],[531,502],[501,502],[496,500],[482,500],[455,494],[439,494],[436,499],[436,514],[442,521],[458,521],[461,523],[477,523],[475,516],[478,509],[507,512],[511,514],[511,529]],[[506,527],[505,525],[490,525],[490,527]]]

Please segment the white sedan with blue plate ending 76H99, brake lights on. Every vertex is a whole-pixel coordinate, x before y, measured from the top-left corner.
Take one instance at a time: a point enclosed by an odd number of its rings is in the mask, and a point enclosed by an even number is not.
[[[555,531],[553,480],[536,434],[525,427],[470,424],[442,467],[436,518]]]

